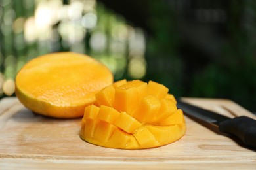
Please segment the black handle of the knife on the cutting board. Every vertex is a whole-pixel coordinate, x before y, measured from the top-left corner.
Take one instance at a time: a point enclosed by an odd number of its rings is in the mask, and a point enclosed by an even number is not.
[[[246,146],[256,148],[256,120],[240,116],[224,120],[219,124],[219,131],[240,138]]]

